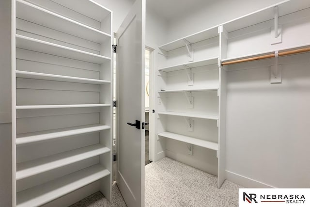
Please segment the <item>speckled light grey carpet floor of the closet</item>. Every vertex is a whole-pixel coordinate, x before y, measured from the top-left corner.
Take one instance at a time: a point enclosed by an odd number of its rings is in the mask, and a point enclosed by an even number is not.
[[[225,181],[217,189],[217,176],[170,158],[145,166],[145,207],[238,207],[238,189]],[[97,192],[71,207],[125,207],[116,183],[112,203]]]

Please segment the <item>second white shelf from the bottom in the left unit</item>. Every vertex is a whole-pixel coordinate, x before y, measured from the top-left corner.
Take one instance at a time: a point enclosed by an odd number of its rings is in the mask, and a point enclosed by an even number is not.
[[[16,167],[16,180],[44,173],[109,151],[110,149],[108,147],[101,144],[95,144],[53,156],[18,163]]]

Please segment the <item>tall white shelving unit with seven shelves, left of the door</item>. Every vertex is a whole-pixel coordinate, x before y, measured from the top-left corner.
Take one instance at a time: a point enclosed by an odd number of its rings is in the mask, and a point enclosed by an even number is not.
[[[111,19],[93,0],[12,0],[13,206],[111,200]]]

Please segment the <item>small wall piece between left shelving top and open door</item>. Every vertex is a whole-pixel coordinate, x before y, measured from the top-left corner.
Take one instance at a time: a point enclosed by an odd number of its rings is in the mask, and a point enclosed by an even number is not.
[[[135,0],[94,0],[113,11],[113,32],[117,32]]]

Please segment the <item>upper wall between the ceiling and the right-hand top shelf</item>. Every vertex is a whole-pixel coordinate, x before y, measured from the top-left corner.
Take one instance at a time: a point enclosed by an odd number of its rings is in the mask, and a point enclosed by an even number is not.
[[[205,30],[282,0],[209,0],[198,9],[169,19],[167,42]]]

